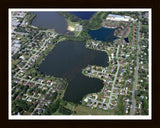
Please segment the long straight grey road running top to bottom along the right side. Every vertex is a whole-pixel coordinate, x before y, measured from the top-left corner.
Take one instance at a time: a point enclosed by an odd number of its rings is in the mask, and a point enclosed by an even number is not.
[[[139,25],[138,25],[138,40],[137,40],[137,66],[136,66],[136,71],[135,71],[135,81],[133,85],[133,94],[132,94],[132,109],[131,109],[131,115],[134,115],[135,112],[135,91],[136,91],[136,85],[137,85],[137,79],[138,79],[138,69],[139,69],[139,51],[140,51],[140,46],[139,46],[139,39],[140,39],[140,27],[141,27],[141,13],[139,13]]]

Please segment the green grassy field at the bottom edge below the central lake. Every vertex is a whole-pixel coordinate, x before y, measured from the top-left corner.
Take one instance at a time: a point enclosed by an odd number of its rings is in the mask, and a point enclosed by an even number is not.
[[[78,105],[76,107],[76,115],[113,115],[112,111],[100,110],[100,109],[91,109],[87,106]]]

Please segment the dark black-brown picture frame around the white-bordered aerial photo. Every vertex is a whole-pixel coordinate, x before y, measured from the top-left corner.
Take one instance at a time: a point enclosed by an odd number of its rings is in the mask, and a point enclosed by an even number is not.
[[[9,8],[151,8],[152,9],[152,120],[9,120],[8,119],[8,9]],[[0,8],[0,122],[3,128],[51,127],[144,127],[160,126],[159,23],[158,0],[3,0]]]

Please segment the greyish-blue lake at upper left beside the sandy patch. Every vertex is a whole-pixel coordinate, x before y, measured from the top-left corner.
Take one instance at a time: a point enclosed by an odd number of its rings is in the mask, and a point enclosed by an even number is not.
[[[66,19],[57,12],[32,12],[36,17],[32,20],[32,25],[47,29],[55,29],[57,33],[71,34],[67,30],[68,24]]]

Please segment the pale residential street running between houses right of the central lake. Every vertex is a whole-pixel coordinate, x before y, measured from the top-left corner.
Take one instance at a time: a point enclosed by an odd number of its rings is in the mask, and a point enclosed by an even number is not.
[[[114,77],[114,81],[113,81],[113,85],[112,85],[111,94],[110,94],[110,98],[109,98],[109,101],[108,101],[107,109],[109,108],[110,103],[111,103],[111,100],[112,100],[112,95],[113,95],[114,85],[115,85],[115,82],[116,82],[116,79],[117,79],[117,75],[118,75],[118,71],[119,71],[118,53],[119,53],[119,45],[118,45],[117,53],[116,53],[116,59],[117,59],[117,64],[118,64],[118,66],[117,66],[117,72],[116,72],[115,77]]]

